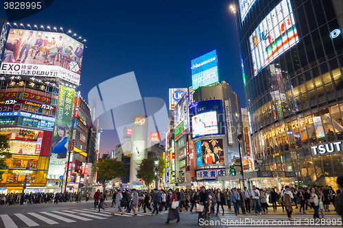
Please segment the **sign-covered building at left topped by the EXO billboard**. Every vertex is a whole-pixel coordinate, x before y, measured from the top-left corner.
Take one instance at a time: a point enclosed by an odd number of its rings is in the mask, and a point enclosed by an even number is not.
[[[9,26],[1,33],[6,42],[0,58],[0,131],[8,135],[11,153],[0,187],[21,191],[27,172],[26,192],[61,190],[67,153],[74,146],[71,121],[84,45],[57,31]],[[82,172],[85,162],[79,166]]]

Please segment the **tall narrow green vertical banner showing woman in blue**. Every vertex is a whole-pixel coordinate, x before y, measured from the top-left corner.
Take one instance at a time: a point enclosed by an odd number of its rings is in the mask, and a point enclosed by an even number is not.
[[[54,140],[51,145],[49,175],[63,175],[68,151],[68,142],[73,111],[74,92],[72,88],[60,87]]]

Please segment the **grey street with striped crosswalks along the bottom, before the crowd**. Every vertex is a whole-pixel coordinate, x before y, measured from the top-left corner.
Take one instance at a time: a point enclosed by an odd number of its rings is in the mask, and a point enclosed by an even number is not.
[[[157,216],[152,216],[150,212],[143,213],[141,210],[138,216],[126,213],[123,216],[116,213],[111,216],[113,208],[110,201],[106,201],[108,207],[102,212],[93,209],[93,202],[81,203],[58,203],[34,204],[34,205],[3,205],[0,207],[0,227],[198,227],[196,212],[180,213],[180,223],[176,220],[165,224],[167,212],[163,211]],[[233,210],[233,209],[232,209]],[[340,216],[332,211],[326,213],[325,220],[318,223],[319,227],[330,227],[329,223],[339,225]],[[221,212],[221,210],[220,210]],[[254,213],[235,216],[233,211],[228,211],[225,207],[225,214],[211,216],[209,223],[204,223],[206,227],[305,227],[313,226],[311,221],[313,211],[308,210],[307,214],[299,213],[294,209],[292,220],[288,220],[285,212],[270,212],[256,216]],[[339,227],[342,225],[339,225]]]

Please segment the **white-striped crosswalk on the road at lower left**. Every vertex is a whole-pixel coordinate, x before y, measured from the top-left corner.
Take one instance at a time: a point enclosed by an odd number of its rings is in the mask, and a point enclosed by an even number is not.
[[[95,219],[107,219],[116,217],[133,217],[134,213],[115,212],[115,216],[110,215],[114,208],[108,207],[106,210],[78,209],[68,211],[51,211],[51,212],[27,212],[16,214],[0,214],[0,227],[17,228],[17,227],[36,227],[40,225],[56,225],[62,223],[75,223],[80,221],[89,221]],[[159,212],[167,214],[167,211]],[[143,213],[142,211],[137,216],[152,216],[151,212]]]

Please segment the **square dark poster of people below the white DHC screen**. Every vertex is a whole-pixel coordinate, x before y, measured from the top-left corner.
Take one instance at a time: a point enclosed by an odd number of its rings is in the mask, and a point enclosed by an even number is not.
[[[222,139],[201,140],[202,164],[224,164]]]

